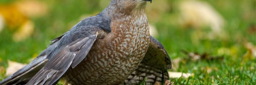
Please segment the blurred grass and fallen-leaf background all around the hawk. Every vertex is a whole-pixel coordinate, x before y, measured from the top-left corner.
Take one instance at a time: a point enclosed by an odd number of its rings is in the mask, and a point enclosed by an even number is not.
[[[0,0],[0,80],[109,2]],[[175,84],[256,84],[256,0],[153,0],[146,14]]]

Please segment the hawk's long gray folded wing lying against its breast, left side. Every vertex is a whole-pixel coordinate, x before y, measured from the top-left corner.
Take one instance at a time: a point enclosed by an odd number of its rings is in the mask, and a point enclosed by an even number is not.
[[[57,52],[53,52],[47,64],[26,85],[57,82],[70,66],[76,67],[86,57],[100,31],[103,30],[96,26],[79,26],[68,31],[55,47]]]

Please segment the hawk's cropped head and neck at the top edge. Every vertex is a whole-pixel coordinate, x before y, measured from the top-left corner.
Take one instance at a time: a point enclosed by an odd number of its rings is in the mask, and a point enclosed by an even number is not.
[[[111,0],[109,6],[101,14],[108,20],[125,15],[140,16],[145,14],[147,1],[152,0]]]

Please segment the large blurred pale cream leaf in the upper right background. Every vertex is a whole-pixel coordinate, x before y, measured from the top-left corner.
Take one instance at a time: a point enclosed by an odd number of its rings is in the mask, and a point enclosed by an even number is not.
[[[222,16],[207,2],[198,0],[183,0],[180,3],[181,24],[194,28],[209,26],[219,34],[224,26]]]

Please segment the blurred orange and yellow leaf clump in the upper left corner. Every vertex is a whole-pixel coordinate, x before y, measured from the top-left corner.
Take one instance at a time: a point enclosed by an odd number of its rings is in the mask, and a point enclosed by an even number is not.
[[[29,20],[29,17],[47,14],[47,7],[35,0],[21,0],[1,5],[0,14],[6,26],[15,31],[12,39],[19,42],[25,40],[34,31],[34,23]],[[2,26],[0,19],[0,31]]]

